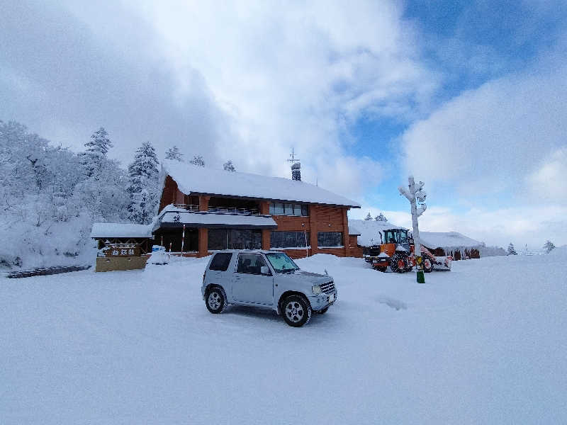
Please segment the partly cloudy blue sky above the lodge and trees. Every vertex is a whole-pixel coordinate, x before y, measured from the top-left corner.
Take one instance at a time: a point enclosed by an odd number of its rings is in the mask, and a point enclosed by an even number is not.
[[[80,151],[100,126],[291,175],[410,226],[567,244],[566,1],[4,1],[0,120]]]

